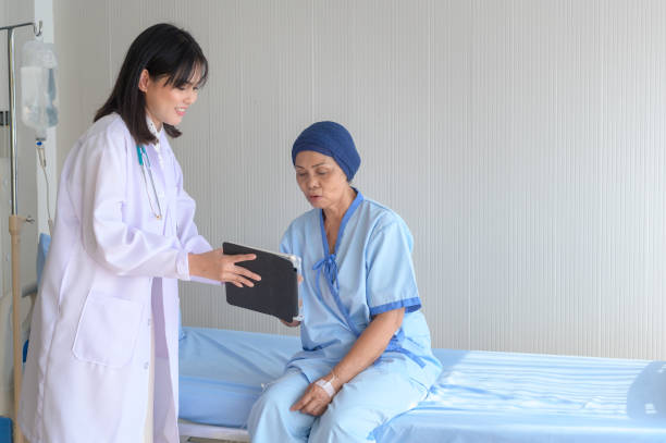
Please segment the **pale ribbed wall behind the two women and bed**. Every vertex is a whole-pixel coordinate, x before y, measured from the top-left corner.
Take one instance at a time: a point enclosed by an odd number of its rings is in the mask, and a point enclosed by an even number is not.
[[[291,144],[345,124],[400,213],[434,345],[666,358],[666,4],[54,0],[59,163],[132,39],[189,29],[211,76],[173,146],[200,231],[275,248]],[[183,285],[186,324],[285,333]]]

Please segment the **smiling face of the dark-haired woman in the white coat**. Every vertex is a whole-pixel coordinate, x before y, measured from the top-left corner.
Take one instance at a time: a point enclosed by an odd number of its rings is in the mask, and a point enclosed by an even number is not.
[[[162,123],[177,126],[199,95],[197,78],[178,87],[166,82],[166,76],[151,78],[146,70],[139,79],[139,89],[146,95],[146,111],[158,130]]]

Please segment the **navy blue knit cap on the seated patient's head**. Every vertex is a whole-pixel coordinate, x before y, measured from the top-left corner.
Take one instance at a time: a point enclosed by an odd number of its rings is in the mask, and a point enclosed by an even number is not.
[[[335,122],[317,122],[300,133],[292,148],[292,162],[304,150],[312,150],[332,157],[343,170],[347,180],[351,180],[360,167],[360,157],[351,135],[345,127]]]

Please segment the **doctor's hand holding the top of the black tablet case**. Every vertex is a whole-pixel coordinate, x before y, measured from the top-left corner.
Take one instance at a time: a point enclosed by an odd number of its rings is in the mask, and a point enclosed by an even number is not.
[[[252,287],[255,283],[251,280],[261,280],[261,276],[258,274],[236,266],[239,261],[256,259],[257,256],[254,254],[229,256],[223,254],[222,249],[213,249],[203,254],[189,254],[187,258],[189,260],[190,275],[202,276],[219,282],[230,282],[238,287],[243,287],[243,285]]]

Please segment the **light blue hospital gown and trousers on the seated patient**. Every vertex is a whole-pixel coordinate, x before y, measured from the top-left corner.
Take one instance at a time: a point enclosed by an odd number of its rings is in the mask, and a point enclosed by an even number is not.
[[[404,307],[403,324],[386,350],[346,383],[333,397],[329,410],[317,420],[326,421],[326,416],[332,415],[341,402],[347,404],[340,405],[341,409],[347,410],[349,405],[363,405],[362,410],[355,413],[355,424],[350,427],[359,428],[359,435],[371,438],[377,426],[414,407],[441,371],[420,309],[409,229],[395,212],[357,192],[341,223],[333,255],[329,254],[321,209],[310,210],[294,220],[280,248],[303,258],[304,282],[299,288],[304,315],[300,324],[303,350],[287,364],[285,376],[271,384],[255,405],[249,419],[252,441],[270,441],[270,435],[275,439],[279,428],[286,429],[281,436],[285,441],[308,441],[310,427],[312,433],[314,429],[322,435],[334,433],[321,430],[314,417],[289,413],[288,407],[309,383],[328,374],[349,352],[374,316]],[[404,399],[400,399],[402,391]],[[271,402],[281,405],[268,407]],[[373,410],[382,408],[385,410]],[[281,411],[262,419],[262,415],[269,414],[267,409]],[[359,422],[358,416],[363,414],[368,417]],[[270,426],[262,420],[270,421]],[[333,421],[340,420],[338,417]],[[300,429],[304,427],[307,429]],[[363,427],[368,429],[361,429]],[[263,435],[264,432],[270,435]],[[303,439],[296,436],[299,432]],[[349,435],[326,436],[317,441],[350,439]]]

